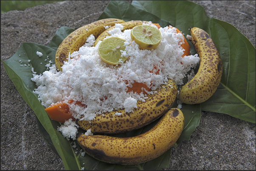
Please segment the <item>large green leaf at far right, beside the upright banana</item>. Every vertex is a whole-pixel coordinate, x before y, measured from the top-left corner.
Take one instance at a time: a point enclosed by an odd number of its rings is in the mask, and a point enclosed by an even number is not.
[[[210,29],[222,58],[223,74],[217,91],[202,104],[202,110],[255,123],[255,48],[227,22],[212,19]]]

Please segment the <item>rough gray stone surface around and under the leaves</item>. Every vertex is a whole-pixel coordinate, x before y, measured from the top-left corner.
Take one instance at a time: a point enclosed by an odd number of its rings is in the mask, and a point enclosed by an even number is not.
[[[234,25],[255,47],[255,1],[195,0],[209,17]],[[79,28],[96,21],[109,1],[64,1],[1,14],[1,59],[22,42],[48,45],[60,26]],[[255,170],[255,124],[202,112],[189,141],[172,149],[166,170]],[[25,103],[1,63],[1,169],[64,170],[62,160],[40,135]]]

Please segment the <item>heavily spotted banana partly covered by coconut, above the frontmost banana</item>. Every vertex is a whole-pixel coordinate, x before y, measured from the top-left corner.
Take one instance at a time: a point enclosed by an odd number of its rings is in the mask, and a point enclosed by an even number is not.
[[[141,128],[160,118],[170,107],[177,97],[177,86],[169,79],[156,90],[158,93],[147,95],[145,102],[138,101],[137,108],[133,112],[125,112],[118,109],[104,115],[96,115],[92,121],[76,121],[76,124],[84,129],[91,129],[94,134],[117,134]],[[115,115],[115,113],[122,115]]]

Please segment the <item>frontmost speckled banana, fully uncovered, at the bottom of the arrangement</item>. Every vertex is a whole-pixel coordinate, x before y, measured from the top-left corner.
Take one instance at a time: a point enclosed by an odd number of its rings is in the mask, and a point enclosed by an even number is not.
[[[148,132],[135,137],[79,135],[77,142],[97,160],[120,165],[135,165],[153,160],[169,150],[180,137],[184,116],[172,108]]]

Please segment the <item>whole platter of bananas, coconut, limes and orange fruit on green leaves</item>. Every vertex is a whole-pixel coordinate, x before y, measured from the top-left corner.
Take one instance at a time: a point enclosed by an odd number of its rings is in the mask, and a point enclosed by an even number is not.
[[[184,13],[181,6],[202,8],[164,3]],[[146,7],[110,1],[97,21],[59,28],[48,46],[23,43],[3,62],[67,170],[166,168],[171,149],[189,140],[202,110],[255,123],[255,48],[248,39],[204,10],[191,11],[194,22],[177,22],[182,17],[167,20]],[[109,12],[114,8],[136,12],[120,16]],[[254,58],[254,68],[236,76],[251,79],[242,81],[250,83],[240,86],[245,90],[231,81],[239,72],[227,59],[242,60],[236,47],[245,46],[236,45],[231,31],[247,45],[246,58]],[[223,47],[241,52],[231,56]]]

